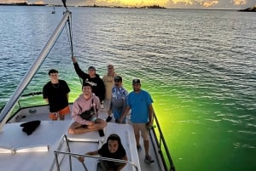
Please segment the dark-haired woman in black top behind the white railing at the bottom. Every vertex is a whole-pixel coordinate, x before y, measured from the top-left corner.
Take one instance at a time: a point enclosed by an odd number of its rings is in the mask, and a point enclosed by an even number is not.
[[[90,151],[85,154],[90,156],[99,154],[102,157],[127,160],[125,148],[122,145],[118,134],[110,134],[107,143],[102,145],[101,149]],[[79,157],[79,161],[84,162],[84,157]],[[101,161],[101,165],[104,171],[120,171],[125,167],[125,163],[123,162]]]

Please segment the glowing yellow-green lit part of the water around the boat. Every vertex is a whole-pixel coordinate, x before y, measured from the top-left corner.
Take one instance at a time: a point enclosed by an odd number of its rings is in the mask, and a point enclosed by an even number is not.
[[[254,169],[255,134],[248,134],[243,128],[241,123],[245,121],[237,119],[230,123],[232,115],[224,115],[230,109],[214,99],[201,100],[190,88],[166,88],[153,82],[154,79],[144,81],[143,88],[154,99],[154,110],[177,170]],[[73,82],[68,80],[68,84],[73,101],[80,94],[78,77],[74,75]],[[125,80],[124,85],[130,92],[131,82]],[[44,103],[41,96],[23,102],[32,105],[32,101]]]

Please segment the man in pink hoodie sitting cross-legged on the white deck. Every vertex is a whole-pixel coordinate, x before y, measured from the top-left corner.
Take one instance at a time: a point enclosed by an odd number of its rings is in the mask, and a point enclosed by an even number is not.
[[[69,134],[83,134],[90,131],[102,129],[107,126],[107,123],[98,116],[98,111],[101,109],[101,103],[99,98],[92,93],[92,86],[90,83],[83,84],[83,94],[79,95],[79,98],[73,102],[72,117],[75,121],[68,128]],[[96,119],[81,117],[82,113],[93,113],[93,117]]]

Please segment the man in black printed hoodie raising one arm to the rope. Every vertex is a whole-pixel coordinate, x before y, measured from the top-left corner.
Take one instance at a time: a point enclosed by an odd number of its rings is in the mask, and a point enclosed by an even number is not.
[[[76,57],[73,56],[72,60],[75,71],[77,72],[79,77],[83,79],[83,84],[90,83],[90,85],[92,86],[92,93],[96,94],[96,96],[98,96],[102,103],[102,101],[105,99],[106,89],[102,78],[98,74],[96,74],[96,68],[94,66],[90,66],[88,68],[87,74],[80,69]]]

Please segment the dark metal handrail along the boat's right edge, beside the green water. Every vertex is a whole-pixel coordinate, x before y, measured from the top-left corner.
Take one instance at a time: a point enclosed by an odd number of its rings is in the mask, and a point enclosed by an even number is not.
[[[172,162],[171,154],[170,154],[170,152],[169,152],[169,150],[168,150],[168,147],[167,147],[167,144],[166,144],[166,140],[165,140],[165,138],[164,138],[164,134],[162,133],[162,130],[161,130],[161,128],[160,128],[160,123],[159,123],[159,121],[158,121],[158,119],[157,119],[155,113],[154,113],[153,117],[154,117],[154,122],[155,122],[155,124],[156,124],[156,128],[159,130],[160,140],[157,141],[157,145],[158,145],[158,150],[160,151],[160,155],[161,155],[161,158],[162,158],[164,167],[165,167],[165,169],[168,170],[168,171],[176,171],[175,166],[174,166],[174,163]],[[156,140],[157,140],[157,135],[156,135],[156,133],[155,133],[155,129],[152,128],[152,130],[153,130],[153,133],[154,133],[154,137],[155,137]],[[167,157],[168,162],[169,162],[169,164],[170,164],[170,168],[169,168],[169,169],[168,169],[168,167],[167,167],[166,160],[164,159],[164,156],[163,156],[163,154],[162,154],[162,152],[161,152],[162,147],[163,147],[163,149],[166,151],[166,157]]]

